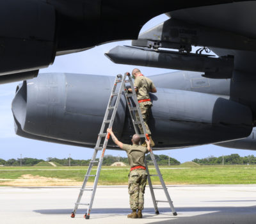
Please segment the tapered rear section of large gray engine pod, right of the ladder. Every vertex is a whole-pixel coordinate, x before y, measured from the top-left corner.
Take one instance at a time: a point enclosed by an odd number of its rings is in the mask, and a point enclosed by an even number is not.
[[[158,88],[152,99],[149,125],[164,148],[234,140],[252,132],[251,109],[218,95]]]

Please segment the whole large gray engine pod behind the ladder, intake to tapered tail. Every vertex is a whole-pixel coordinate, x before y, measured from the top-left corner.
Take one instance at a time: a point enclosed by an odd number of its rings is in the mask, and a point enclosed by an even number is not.
[[[17,134],[93,147],[113,81],[80,74],[41,74],[24,81],[12,102]],[[235,140],[252,132],[250,108],[218,95],[157,88],[150,98],[154,106],[148,124],[156,149]],[[134,130],[124,98],[113,131],[131,143]]]

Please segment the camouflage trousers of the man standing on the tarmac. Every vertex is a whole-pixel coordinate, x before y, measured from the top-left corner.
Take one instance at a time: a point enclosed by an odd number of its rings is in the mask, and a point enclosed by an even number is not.
[[[144,193],[147,184],[147,172],[143,169],[132,170],[129,173],[128,193],[131,209],[143,209]]]

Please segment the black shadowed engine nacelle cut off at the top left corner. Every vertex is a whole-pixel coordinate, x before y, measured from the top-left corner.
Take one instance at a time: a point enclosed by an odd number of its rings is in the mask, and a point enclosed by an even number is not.
[[[53,63],[53,6],[43,1],[1,1],[0,20],[0,76],[38,70]]]

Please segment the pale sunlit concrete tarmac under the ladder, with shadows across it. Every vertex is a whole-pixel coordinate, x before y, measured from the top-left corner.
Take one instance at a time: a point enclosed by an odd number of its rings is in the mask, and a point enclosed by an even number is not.
[[[165,200],[163,190],[155,191],[157,200]],[[176,185],[168,186],[168,191],[178,216],[166,203],[159,203],[156,215],[146,188],[143,218],[127,219],[131,212],[127,186],[99,186],[90,220],[84,220],[84,205],[76,218],[70,218],[79,188],[1,187],[0,223],[256,223],[256,185]]]

